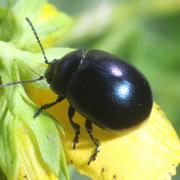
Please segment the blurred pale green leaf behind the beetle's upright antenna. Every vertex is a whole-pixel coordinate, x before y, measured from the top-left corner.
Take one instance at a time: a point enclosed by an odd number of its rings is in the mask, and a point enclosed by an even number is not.
[[[26,5],[24,2],[26,2]],[[28,3],[31,3],[31,6],[29,6],[30,8],[24,8],[24,6],[28,6]],[[30,51],[40,51],[37,40],[34,37],[31,27],[26,22],[25,17],[28,17],[32,21],[41,41],[46,42],[43,43],[44,47],[50,47],[56,43],[61,38],[64,31],[66,31],[72,23],[72,20],[68,15],[62,12],[58,12],[55,7],[54,9],[50,9],[49,12],[46,12],[47,14],[43,14],[42,10],[44,4],[45,1],[43,0],[41,0],[40,3],[39,1],[18,1],[15,4],[14,11],[21,8],[24,8],[22,11],[26,11],[21,14],[20,10],[20,14],[18,13],[16,16],[19,26],[17,28],[16,34],[14,35],[14,38],[12,39],[12,42],[15,43],[18,47]],[[49,16],[47,16],[48,14]],[[44,16],[45,20],[43,19]]]

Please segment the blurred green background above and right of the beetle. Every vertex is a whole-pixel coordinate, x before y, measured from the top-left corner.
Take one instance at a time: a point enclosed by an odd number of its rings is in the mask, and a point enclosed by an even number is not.
[[[155,101],[180,135],[180,1],[50,2],[74,19],[60,45],[102,49],[134,64],[149,80]],[[177,179],[180,168],[173,177]]]

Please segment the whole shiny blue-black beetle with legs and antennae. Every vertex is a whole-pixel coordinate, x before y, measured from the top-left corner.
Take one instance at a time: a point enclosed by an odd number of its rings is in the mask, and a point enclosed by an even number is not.
[[[80,135],[80,126],[73,121],[75,111],[85,117],[85,128],[96,146],[87,163],[89,165],[100,150],[100,141],[93,135],[92,124],[104,130],[120,131],[144,122],[153,104],[150,85],[135,67],[102,50],[78,49],[49,62],[32,22],[28,18],[26,20],[48,68],[37,79],[7,83],[0,87],[46,79],[57,99],[42,105],[34,118],[66,98],[70,104],[68,118],[75,131],[73,149]]]

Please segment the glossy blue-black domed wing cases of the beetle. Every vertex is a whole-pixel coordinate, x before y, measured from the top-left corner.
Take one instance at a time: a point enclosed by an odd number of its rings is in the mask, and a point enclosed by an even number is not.
[[[144,76],[100,50],[86,54],[68,84],[66,97],[85,118],[110,130],[143,122],[152,108],[152,93]]]

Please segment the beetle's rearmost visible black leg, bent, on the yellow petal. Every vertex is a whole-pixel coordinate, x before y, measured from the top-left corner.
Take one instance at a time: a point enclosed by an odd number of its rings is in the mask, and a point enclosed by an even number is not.
[[[88,120],[88,119],[86,120],[85,127],[86,127],[86,130],[87,130],[91,140],[96,145],[96,149],[95,149],[94,153],[91,155],[89,162],[87,163],[89,165],[91,163],[91,161],[94,161],[96,159],[97,153],[100,151],[100,142],[92,134],[92,122],[90,120]]]

